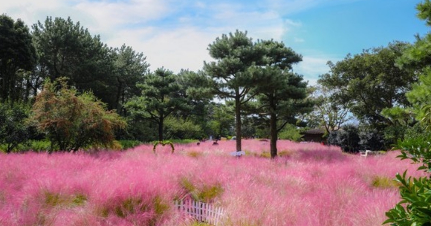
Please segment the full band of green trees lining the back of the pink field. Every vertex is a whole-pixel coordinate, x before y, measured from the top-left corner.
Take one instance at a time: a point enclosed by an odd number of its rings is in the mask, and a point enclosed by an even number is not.
[[[427,65],[425,56],[413,57],[418,55],[415,46],[425,42],[419,37],[416,44],[395,41],[329,61],[328,73],[314,87],[292,70],[301,54],[282,42],[253,41],[242,31],[209,44],[213,61],[204,62],[201,70],[178,74],[164,67],[150,71],[142,52],[125,44],[109,47],[71,18],[47,17],[29,29],[3,14],[0,41],[5,119],[19,109],[15,113],[21,118],[34,119],[35,112],[50,115],[53,110],[31,106],[42,106],[35,104],[37,96],[54,83],[51,98],[59,98],[66,87],[73,90],[71,96],[94,95],[83,99],[98,101],[107,114],[121,117],[127,127],[114,131],[116,139],[236,136],[236,150],[241,151],[241,137],[269,137],[275,157],[278,136],[294,139],[301,127],[322,128],[328,143],[356,152],[390,148],[397,139],[417,133],[418,117],[425,114],[414,110],[427,101],[417,91]],[[356,124],[346,125],[352,121]],[[32,123],[28,139],[52,136]],[[9,124],[0,131],[11,131]]]

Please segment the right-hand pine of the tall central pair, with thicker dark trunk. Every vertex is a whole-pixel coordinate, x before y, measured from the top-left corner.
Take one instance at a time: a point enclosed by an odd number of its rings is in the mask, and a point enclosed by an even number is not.
[[[265,66],[250,69],[257,81],[251,95],[257,96],[258,114],[269,124],[270,153],[274,158],[277,156],[278,132],[288,123],[295,124],[298,114],[311,111],[313,103],[306,100],[307,82],[302,76],[290,72],[302,56],[283,43],[272,40],[257,45],[266,50]],[[282,121],[279,126],[278,121]]]

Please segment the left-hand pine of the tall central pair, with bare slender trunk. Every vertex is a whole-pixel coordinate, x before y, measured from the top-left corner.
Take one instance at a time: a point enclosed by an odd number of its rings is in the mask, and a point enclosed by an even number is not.
[[[254,86],[254,77],[248,71],[253,65],[263,65],[265,49],[252,42],[246,32],[223,34],[209,45],[213,62],[204,62],[204,70],[214,81],[219,98],[235,102],[236,151],[241,151],[241,105],[249,100],[247,94]]]

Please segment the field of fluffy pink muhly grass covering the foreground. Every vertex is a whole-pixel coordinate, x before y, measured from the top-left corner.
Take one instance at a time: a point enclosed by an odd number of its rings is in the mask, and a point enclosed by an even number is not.
[[[1,226],[191,226],[174,200],[223,208],[224,226],[378,226],[399,201],[397,151],[342,153],[319,143],[243,140],[141,145],[122,152],[0,154]]]

